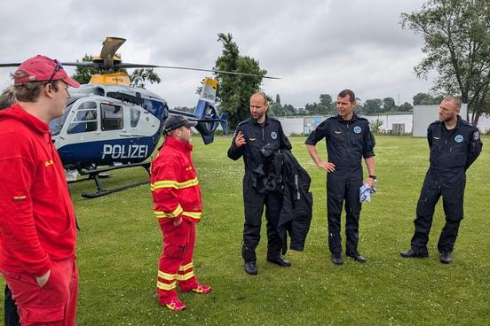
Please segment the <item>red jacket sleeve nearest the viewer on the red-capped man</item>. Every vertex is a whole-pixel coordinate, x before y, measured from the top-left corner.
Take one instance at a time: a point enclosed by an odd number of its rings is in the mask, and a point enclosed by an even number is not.
[[[0,142],[0,233],[2,252],[19,261],[28,273],[42,276],[51,268],[36,231],[30,189],[35,186],[36,164],[28,154],[28,139],[8,136]],[[12,146],[12,144],[16,144]],[[7,171],[9,171],[7,173]]]

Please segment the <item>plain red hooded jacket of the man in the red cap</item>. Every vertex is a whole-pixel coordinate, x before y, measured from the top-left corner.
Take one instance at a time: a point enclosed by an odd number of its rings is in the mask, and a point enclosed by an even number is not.
[[[42,276],[75,256],[75,210],[49,126],[0,111],[0,269]]]

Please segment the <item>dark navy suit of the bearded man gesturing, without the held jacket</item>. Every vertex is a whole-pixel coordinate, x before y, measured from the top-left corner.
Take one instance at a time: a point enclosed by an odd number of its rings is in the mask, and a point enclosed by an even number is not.
[[[235,136],[241,131],[246,144],[236,147]],[[274,166],[274,153],[290,150],[291,144],[284,135],[279,120],[266,117],[259,124],[257,120],[247,119],[237,126],[228,157],[236,160],[243,157],[245,175],[243,176],[243,203],[245,224],[243,227],[242,256],[246,261],[255,261],[255,249],[260,241],[260,225],[265,206],[267,220],[267,255],[277,257],[281,254],[281,238],[277,233],[281,212],[281,175],[271,173],[280,166]]]

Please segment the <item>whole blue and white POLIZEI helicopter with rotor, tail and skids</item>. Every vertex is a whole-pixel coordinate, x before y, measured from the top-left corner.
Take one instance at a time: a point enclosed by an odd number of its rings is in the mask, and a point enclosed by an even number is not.
[[[93,75],[88,84],[70,89],[72,94],[67,100],[65,113],[50,122],[52,140],[66,169],[67,181],[93,180],[97,186],[97,192],[83,193],[85,198],[96,198],[147,183],[105,189],[100,178],[107,177],[109,171],[127,167],[144,167],[149,174],[150,162],[147,159],[159,143],[169,114],[182,114],[197,121],[195,128],[204,144],[213,142],[219,124],[227,133],[226,114],[219,115],[215,104],[215,79],[204,79],[194,113],[186,113],[170,110],[166,101],[152,91],[131,87],[130,77],[120,69],[160,67],[257,77],[254,74],[190,67],[123,63],[115,56],[115,51],[125,41],[120,37],[107,37],[100,56],[93,58],[92,62],[62,63],[63,66],[96,67],[100,72]],[[77,180],[78,175],[86,177]]]

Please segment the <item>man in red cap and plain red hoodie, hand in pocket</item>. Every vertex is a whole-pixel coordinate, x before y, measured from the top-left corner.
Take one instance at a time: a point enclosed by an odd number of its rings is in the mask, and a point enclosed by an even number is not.
[[[80,84],[43,56],[13,79],[18,104],[0,112],[0,271],[22,325],[74,325],[75,211],[48,122]]]

